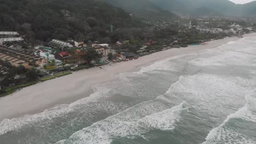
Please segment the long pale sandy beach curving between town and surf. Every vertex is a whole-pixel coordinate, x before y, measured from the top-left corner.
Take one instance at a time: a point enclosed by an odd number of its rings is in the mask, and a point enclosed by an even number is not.
[[[80,70],[71,75],[23,88],[7,97],[0,98],[0,121],[5,118],[10,119],[43,112],[60,104],[71,104],[78,99],[89,97],[93,93],[91,86],[114,80],[115,75],[119,73],[136,71],[141,67],[165,58],[212,49],[238,39],[236,37],[225,38],[210,41],[204,46],[196,45],[160,51],[152,55],[139,57],[134,61],[116,63],[113,66],[105,65],[102,69]]]

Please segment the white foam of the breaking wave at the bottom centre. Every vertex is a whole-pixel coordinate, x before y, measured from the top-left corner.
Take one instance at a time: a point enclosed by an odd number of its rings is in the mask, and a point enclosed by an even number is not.
[[[118,137],[142,136],[149,130],[173,130],[179,120],[184,103],[161,111],[165,106],[158,106],[159,101],[152,100],[138,104],[112,117],[97,122],[90,127],[77,131],[65,142],[60,143],[111,143]],[[161,112],[157,112],[161,111]],[[156,112],[156,113],[155,113]]]

